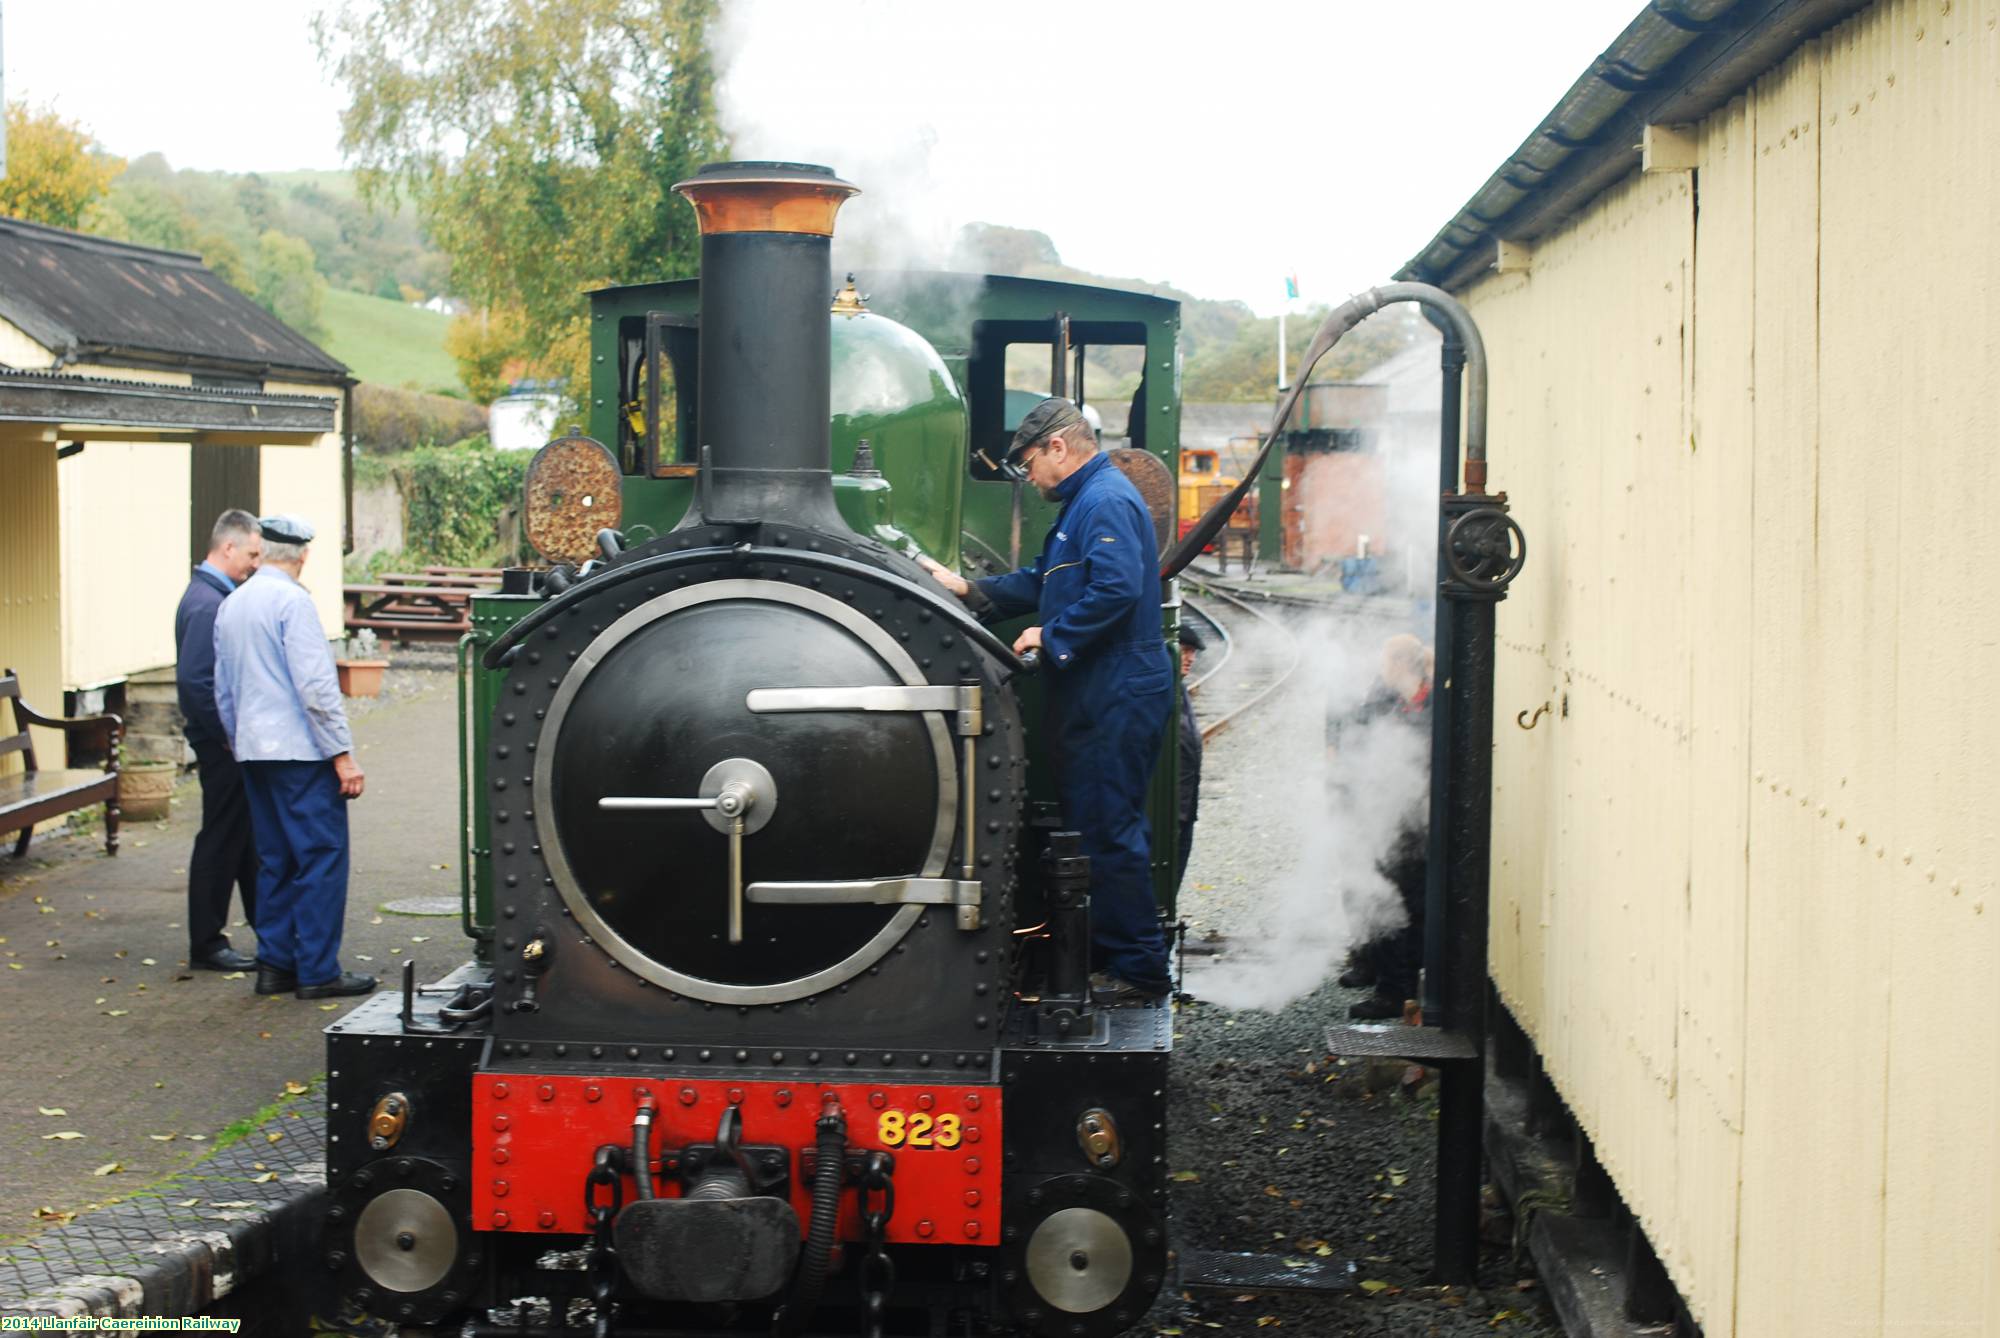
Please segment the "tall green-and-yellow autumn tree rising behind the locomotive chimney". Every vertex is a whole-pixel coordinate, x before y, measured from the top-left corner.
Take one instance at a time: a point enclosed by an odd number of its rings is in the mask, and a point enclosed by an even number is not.
[[[504,310],[512,350],[586,384],[582,288],[692,274],[672,184],[726,154],[714,0],[348,0],[316,26],[346,86],[342,148],[370,202],[408,196],[452,290]],[[518,322],[514,314],[518,312]],[[490,384],[494,330],[468,382]]]

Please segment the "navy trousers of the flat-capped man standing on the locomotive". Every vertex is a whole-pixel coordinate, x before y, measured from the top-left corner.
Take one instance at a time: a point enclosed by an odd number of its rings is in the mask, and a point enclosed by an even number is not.
[[[1158,674],[1104,674],[1054,708],[1062,820],[1090,856],[1090,946],[1094,966],[1136,986],[1166,990],[1172,972],[1160,904],[1152,896],[1152,826],[1146,790],[1160,760],[1168,694],[1166,650]],[[1124,666],[1120,666],[1124,668]],[[1078,674],[1080,670],[1070,670]]]

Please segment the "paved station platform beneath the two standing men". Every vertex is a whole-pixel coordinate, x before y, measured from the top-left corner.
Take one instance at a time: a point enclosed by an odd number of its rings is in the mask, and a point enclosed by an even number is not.
[[[388,910],[458,896],[454,712],[436,668],[392,668],[352,704],[368,792],[342,966],[384,988],[404,960],[428,978],[470,954],[456,916]],[[356,1000],[258,998],[186,966],[198,814],[190,776],[118,858],[92,834],[0,856],[0,1314],[194,1314],[318,1218],[322,1028]]]

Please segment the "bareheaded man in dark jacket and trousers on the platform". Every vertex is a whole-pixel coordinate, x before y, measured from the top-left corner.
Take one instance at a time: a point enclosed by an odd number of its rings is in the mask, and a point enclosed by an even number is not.
[[[200,970],[256,966],[254,958],[230,946],[224,932],[230,886],[242,896],[244,920],[256,926],[256,842],[244,774],[216,714],[216,610],[256,572],[262,554],[256,516],[222,512],[208,534],[208,556],[194,568],[174,612],[174,686],[202,776],[202,830],[194,834],[194,854],[188,856],[188,966]]]

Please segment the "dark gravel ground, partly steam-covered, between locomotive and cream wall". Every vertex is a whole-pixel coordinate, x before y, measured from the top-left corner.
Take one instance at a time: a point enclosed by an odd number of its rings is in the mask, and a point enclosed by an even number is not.
[[[1368,636],[1348,664],[1374,654],[1380,632]],[[1344,658],[1324,634],[1308,630],[1306,642],[1316,664]],[[1172,1214],[1182,1248],[1354,1260],[1358,1286],[1164,1294],[1140,1332],[1554,1338],[1562,1330],[1532,1268],[1516,1266],[1504,1244],[1486,1248],[1476,1290],[1426,1284],[1434,1086],[1406,1092],[1400,1064],[1326,1056],[1326,1024],[1362,996],[1332,984],[1346,948],[1332,872],[1304,868],[1316,850],[1326,858],[1330,826],[1320,800],[1326,688],[1298,682],[1208,746],[1182,914],[1194,926],[1190,942],[1220,930],[1228,944],[1208,962],[1190,954],[1188,988],[1200,996],[1214,986],[1270,1008],[1180,1010],[1168,1110]],[[1242,952],[1254,944],[1284,950],[1246,970]]]

